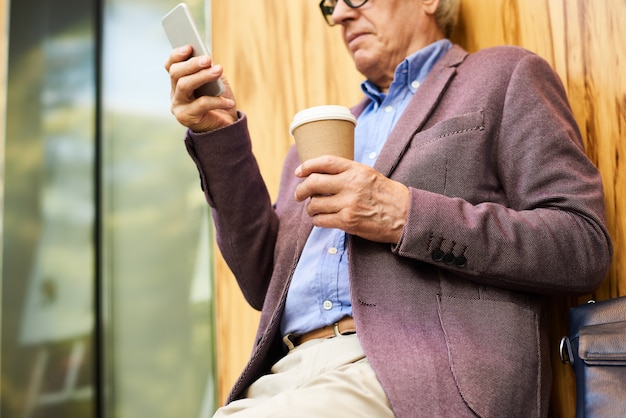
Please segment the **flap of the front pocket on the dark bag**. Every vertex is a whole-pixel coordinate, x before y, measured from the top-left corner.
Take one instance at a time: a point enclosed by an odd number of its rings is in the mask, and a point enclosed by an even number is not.
[[[581,327],[578,355],[589,365],[626,366],[626,321]]]

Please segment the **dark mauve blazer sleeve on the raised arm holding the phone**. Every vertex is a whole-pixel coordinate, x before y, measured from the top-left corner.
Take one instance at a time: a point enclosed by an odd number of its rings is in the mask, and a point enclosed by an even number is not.
[[[245,114],[235,124],[205,134],[187,132],[212,209],[217,244],[248,303],[260,310],[273,270],[278,218],[252,154]]]

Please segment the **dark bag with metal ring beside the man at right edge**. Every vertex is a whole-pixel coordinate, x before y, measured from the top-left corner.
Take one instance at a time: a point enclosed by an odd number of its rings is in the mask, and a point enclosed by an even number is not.
[[[573,307],[561,361],[574,367],[576,418],[626,417],[626,296]]]

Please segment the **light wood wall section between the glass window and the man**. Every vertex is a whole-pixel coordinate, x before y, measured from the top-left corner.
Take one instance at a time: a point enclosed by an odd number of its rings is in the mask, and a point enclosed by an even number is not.
[[[324,22],[318,2],[213,0],[212,14],[214,58],[249,118],[252,147],[275,198],[293,141],[293,115],[309,106],[356,103],[361,76],[345,53],[339,29]],[[219,253],[216,260],[221,402],[250,355],[259,314],[243,300]]]

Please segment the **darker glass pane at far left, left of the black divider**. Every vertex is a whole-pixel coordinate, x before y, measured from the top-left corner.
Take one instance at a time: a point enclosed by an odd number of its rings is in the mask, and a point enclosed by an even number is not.
[[[93,10],[27,3],[11,5],[1,412],[91,416]]]

